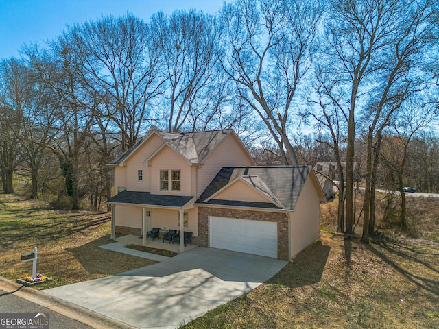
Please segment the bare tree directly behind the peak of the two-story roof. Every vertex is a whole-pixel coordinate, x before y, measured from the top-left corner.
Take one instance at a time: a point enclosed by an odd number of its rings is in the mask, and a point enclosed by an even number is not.
[[[218,84],[219,35],[213,16],[195,10],[176,11],[169,17],[158,12],[151,18],[151,29],[165,68],[156,117],[171,132],[209,127],[214,119],[222,125],[222,103],[228,95],[227,83]]]

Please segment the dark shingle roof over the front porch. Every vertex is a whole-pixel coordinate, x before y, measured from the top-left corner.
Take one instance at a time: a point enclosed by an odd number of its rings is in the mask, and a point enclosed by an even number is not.
[[[162,206],[181,208],[193,197],[178,195],[158,195],[150,192],[122,191],[107,200],[108,204],[141,204],[147,206]]]

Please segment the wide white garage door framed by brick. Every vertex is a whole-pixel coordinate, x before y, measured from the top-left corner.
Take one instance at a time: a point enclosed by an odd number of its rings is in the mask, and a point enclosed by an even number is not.
[[[277,258],[277,223],[210,217],[209,245]]]

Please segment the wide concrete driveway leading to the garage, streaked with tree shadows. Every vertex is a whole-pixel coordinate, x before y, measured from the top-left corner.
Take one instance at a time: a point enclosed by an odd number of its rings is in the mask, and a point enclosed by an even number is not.
[[[286,264],[198,247],[161,263],[45,293],[137,328],[178,328],[254,289]]]

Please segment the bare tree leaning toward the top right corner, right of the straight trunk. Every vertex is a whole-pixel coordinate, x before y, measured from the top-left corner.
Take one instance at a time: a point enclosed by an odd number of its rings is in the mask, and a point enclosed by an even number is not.
[[[377,162],[381,147],[381,135],[391,122],[392,114],[401,103],[414,93],[425,88],[428,75],[423,74],[424,53],[434,45],[438,22],[434,20],[433,3],[423,1],[396,6],[393,22],[395,31],[390,34],[388,45],[383,49],[385,58],[378,71],[378,88],[371,90],[370,107],[365,115],[368,119],[368,152],[366,189],[364,197],[363,241],[375,232],[375,187],[377,184]],[[395,115],[394,117],[397,117]],[[374,136],[375,135],[375,136]]]

